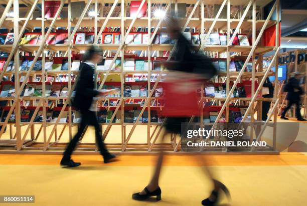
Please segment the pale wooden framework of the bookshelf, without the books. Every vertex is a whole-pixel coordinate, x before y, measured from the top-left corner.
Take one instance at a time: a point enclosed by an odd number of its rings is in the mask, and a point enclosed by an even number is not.
[[[250,116],[251,132],[249,141],[258,141],[264,132],[266,126],[273,128],[273,137],[271,146],[266,151],[274,151],[276,146],[276,118],[277,118],[277,106],[279,105],[278,88],[275,87],[273,98],[262,98],[257,95],[261,93],[262,85],[267,76],[275,76],[277,80],[277,73],[271,72],[270,68],[273,65],[277,65],[278,53],[279,53],[279,16],[277,20],[271,20],[273,12],[280,11],[279,1],[276,0],[270,13],[265,19],[263,19],[263,6],[266,1],[245,1],[245,0],[189,0],[189,1],[160,1],[160,0],[142,0],[139,8],[136,11],[134,17],[129,16],[130,0],[114,0],[114,1],[98,1],[88,0],[85,1],[85,7],[80,17],[72,18],[72,3],[79,1],[61,0],[58,10],[55,14],[55,18],[42,18],[45,17],[44,4],[46,1],[41,0],[1,0],[2,5],[6,5],[2,17],[0,19],[0,28],[8,28],[9,31],[14,30],[14,43],[12,45],[0,45],[1,52],[8,52],[8,57],[5,58],[6,63],[3,71],[1,71],[0,81],[3,81],[3,77],[11,78],[14,75],[15,78],[15,97],[0,97],[0,100],[7,101],[8,114],[10,117],[15,113],[16,122],[10,123],[9,118],[1,122],[2,128],[0,130],[0,152],[7,149],[13,149],[15,151],[43,151],[53,152],[62,151],[66,142],[61,142],[61,138],[68,135],[69,138],[73,136],[73,129],[76,129],[77,123],[72,120],[73,108],[70,106],[70,97],[73,94],[75,81],[72,78],[77,79],[78,71],[72,71],[71,63],[75,54],[82,54],[90,47],[91,44],[74,44],[74,38],[77,33],[80,32],[93,32],[94,43],[104,51],[104,57],[111,58],[112,61],[107,70],[97,70],[95,68],[95,82],[97,82],[97,89],[102,89],[107,84],[107,78],[110,75],[118,75],[120,77],[121,93],[119,97],[99,97],[97,101],[98,107],[104,107],[106,110],[114,110],[109,123],[102,123],[103,136],[108,148],[114,151],[154,151],[157,148],[166,148],[169,151],[180,151],[181,139],[179,135],[171,134],[170,141],[166,143],[159,143],[159,137],[163,129],[165,120],[160,122],[152,122],[150,117],[151,110],[161,110],[163,107],[163,100],[161,97],[154,97],[154,93],[163,79],[163,75],[167,75],[167,71],[154,71],[150,70],[153,58],[171,59],[174,44],[154,44],[155,36],[163,27],[165,27],[167,18],[154,17],[154,10],[157,8],[164,10],[167,14],[170,14],[171,10],[175,11],[175,16],[178,15],[178,4],[185,3],[186,16],[181,17],[180,23],[182,24],[182,32],[192,30],[197,31],[200,34],[201,43],[194,45],[195,49],[199,52],[205,51],[209,56],[215,58],[224,58],[226,60],[227,68],[229,68],[231,58],[240,56],[244,59],[244,64],[241,71],[230,72],[227,69],[226,72],[221,72],[214,78],[213,82],[224,81],[226,83],[226,96],[222,98],[206,97],[204,95],[204,86],[202,86],[200,92],[200,123],[204,123],[204,111],[207,109],[206,103],[213,101],[211,108],[215,108],[218,112],[216,120],[212,122],[213,127],[217,126],[219,119],[225,114],[225,121],[229,120],[229,111],[232,106],[245,106],[246,112],[242,117],[242,122],[246,122],[248,116]],[[38,6],[40,4],[40,6]],[[21,6],[23,5],[23,6]],[[24,7],[24,5],[26,7]],[[136,18],[141,11],[143,5],[147,5],[147,15],[145,17]],[[172,6],[173,9],[172,9]],[[25,9],[26,8],[26,9]],[[13,17],[8,17],[8,13],[13,10]],[[94,17],[88,17],[88,11],[91,10],[95,14]],[[215,10],[215,12],[212,12]],[[23,16],[20,15],[23,11]],[[211,12],[210,12],[211,11]],[[63,15],[65,13],[65,15]],[[63,17],[59,17],[59,15]],[[222,17],[222,14],[225,17]],[[64,17],[65,16],[65,17]],[[42,41],[41,44],[20,44],[21,38],[24,37],[25,32],[32,32],[36,27],[46,28],[41,30]],[[46,41],[48,36],[54,32],[54,29],[63,27],[67,30],[68,41],[67,44],[48,44]],[[97,43],[101,35],[105,32],[106,28],[118,27],[121,34],[121,41],[119,44],[104,44]],[[147,44],[126,44],[125,40],[128,34],[135,32],[136,27],[153,28],[152,31],[147,29],[148,43]],[[275,27],[275,45],[273,46],[261,46],[261,39],[264,31],[267,28]],[[27,31],[26,31],[27,30]],[[227,33],[226,45],[206,45],[205,42],[209,39],[210,34],[213,32]],[[232,42],[237,34],[248,34],[251,36],[250,46],[232,45]],[[125,71],[124,60],[125,55],[135,54],[135,51],[141,51],[141,57],[147,61],[149,68],[147,71]],[[266,52],[274,51],[272,62],[264,69],[262,67],[263,54]],[[73,54],[74,53],[74,54]],[[33,58],[33,63],[27,71],[19,71],[20,68],[20,56],[29,54]],[[67,71],[49,71],[45,68],[45,62],[48,59],[55,57],[67,57],[68,58],[68,70]],[[120,59],[120,71],[113,71],[112,65],[114,65],[116,59]],[[7,71],[9,63],[14,60],[15,71]],[[42,70],[34,71],[35,63],[37,60],[42,61]],[[248,63],[252,62],[252,70],[246,72],[245,68]],[[153,67],[152,67],[153,68]],[[59,75],[68,76],[68,97],[48,97],[46,96],[46,85],[48,76],[54,76],[55,79]],[[147,86],[147,95],[144,97],[125,97],[124,85],[125,77],[127,75],[135,76],[141,74],[147,76],[145,86]],[[74,75],[72,77],[72,75]],[[19,79],[23,77],[23,81],[19,83]],[[33,82],[37,76],[41,76],[42,83],[42,97],[24,97],[21,96],[26,84]],[[154,81],[150,81],[150,77],[153,76]],[[99,78],[100,77],[100,78]],[[251,96],[250,97],[232,97],[236,86],[240,84],[242,80],[251,80]],[[258,88],[255,86],[255,82],[258,80]],[[129,102],[134,100],[140,101],[137,105],[128,105]],[[34,113],[29,122],[21,122],[21,110],[23,109],[24,101],[30,101],[30,105],[34,108]],[[51,105],[48,105],[49,101],[53,101]],[[110,102],[115,101],[114,106],[110,106]],[[261,119],[261,101],[272,102],[272,108],[268,114],[268,119],[262,122],[262,127],[259,129],[255,122]],[[60,104],[60,103],[62,104]],[[104,106],[108,102],[107,106]],[[158,104],[158,102],[160,102]],[[35,122],[35,117],[38,112],[42,110],[42,115],[46,117],[46,113],[50,107],[60,105],[57,109],[59,112],[59,118],[55,122],[47,122],[46,118],[43,118],[42,122]],[[127,107],[138,107],[140,110],[138,116],[135,117],[133,123],[124,122],[124,111]],[[63,113],[68,112],[68,122],[60,122],[60,117]],[[116,119],[117,111],[121,111],[120,121],[113,122]],[[143,112],[147,111],[147,122],[139,122],[142,118]],[[269,123],[269,120],[273,117],[273,122]],[[190,122],[194,121],[194,118],[190,119]],[[60,132],[59,132],[60,131]],[[112,137],[110,133],[112,133]],[[8,138],[5,138],[6,136]],[[120,136],[119,141],[113,141],[114,136]],[[145,142],[143,142],[143,137]],[[140,140],[141,139],[141,140]],[[78,151],[95,151],[96,146],[94,143],[80,142]],[[257,151],[257,148],[252,148],[253,151]]]

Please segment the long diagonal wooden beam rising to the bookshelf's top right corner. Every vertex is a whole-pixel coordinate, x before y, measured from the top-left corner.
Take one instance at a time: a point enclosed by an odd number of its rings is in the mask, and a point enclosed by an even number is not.
[[[217,126],[218,120],[221,118],[221,116],[222,116],[222,114],[223,114],[223,112],[224,112],[224,110],[225,110],[225,108],[226,108],[226,105],[228,104],[228,102],[229,102],[229,100],[230,100],[230,98],[231,98],[231,95],[232,95],[232,93],[234,92],[234,89],[236,88],[236,86],[237,86],[237,84],[238,84],[238,82],[239,82],[241,76],[243,75],[243,72],[244,72],[244,70],[245,70],[245,68],[246,68],[246,66],[247,66],[247,63],[249,62],[251,56],[253,55],[253,53],[254,53],[254,51],[255,51],[255,49],[256,49],[256,46],[257,46],[258,42],[260,41],[261,36],[262,36],[262,34],[263,34],[263,32],[264,32],[264,29],[266,28],[266,26],[267,26],[267,24],[268,24],[268,21],[269,21],[269,19],[271,18],[273,12],[274,12],[275,7],[276,7],[276,2],[274,3],[274,5],[273,5],[273,7],[272,7],[272,9],[271,9],[271,11],[270,11],[270,13],[269,13],[269,15],[268,15],[266,21],[264,22],[263,27],[261,28],[261,31],[260,31],[260,33],[259,33],[259,35],[258,35],[258,37],[257,37],[257,39],[256,39],[256,41],[255,41],[255,43],[254,43],[254,45],[253,45],[253,47],[252,47],[252,49],[251,49],[249,55],[248,55],[248,57],[247,57],[247,59],[246,59],[244,65],[243,65],[243,67],[242,67],[242,70],[241,70],[240,73],[238,74],[236,81],[234,82],[234,84],[233,84],[231,90],[229,91],[229,93],[228,93],[228,95],[227,95],[227,97],[226,97],[226,100],[225,100],[225,102],[224,102],[224,104],[223,104],[223,106],[222,106],[222,108],[221,108],[221,111],[219,112],[219,114],[218,114],[218,116],[217,116],[217,118],[216,118],[216,120],[215,120],[215,122],[214,122],[214,124],[213,124],[213,126],[212,126],[213,129],[215,129],[215,127]]]

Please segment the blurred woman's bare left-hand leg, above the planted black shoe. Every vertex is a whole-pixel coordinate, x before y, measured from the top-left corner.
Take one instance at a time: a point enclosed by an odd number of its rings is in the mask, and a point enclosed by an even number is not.
[[[164,134],[162,136],[162,141],[164,140],[164,138],[166,137],[167,134],[168,134],[168,132],[164,132]],[[159,154],[158,154],[157,163],[156,163],[156,167],[155,167],[155,170],[154,170],[154,175],[152,175],[151,180],[149,181],[148,185],[146,186],[149,191],[154,191],[159,187],[159,177],[160,177],[160,173],[161,173],[161,169],[162,169],[163,155],[164,155],[164,152],[161,149]],[[140,194],[146,194],[146,192],[144,190],[142,190],[140,192]]]

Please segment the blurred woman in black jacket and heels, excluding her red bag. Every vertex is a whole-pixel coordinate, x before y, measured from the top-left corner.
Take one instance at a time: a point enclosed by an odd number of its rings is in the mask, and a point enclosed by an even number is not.
[[[165,63],[165,66],[168,68],[168,70],[171,70],[168,73],[169,77],[170,75],[176,78],[177,82],[187,82],[187,79],[195,79],[195,77],[198,77],[199,79],[203,79],[205,81],[206,74],[198,74],[197,64],[201,64],[201,62],[197,61],[197,55],[193,54],[193,48],[191,46],[191,43],[183,36],[181,33],[181,28],[179,25],[179,22],[176,19],[170,19],[169,20],[169,27],[168,27],[169,36],[172,40],[177,40],[177,43],[175,45],[175,50],[173,53],[174,60],[167,61]],[[200,59],[199,59],[200,60]],[[197,66],[195,66],[197,65]],[[210,68],[214,68],[211,61],[208,59],[207,64],[202,65],[203,71],[208,70],[208,73]],[[200,72],[201,73],[201,72]],[[212,72],[214,73],[214,72]],[[214,74],[213,74],[214,75]],[[213,75],[208,75],[213,76]],[[204,78],[205,77],[205,78]],[[176,80],[175,80],[176,82]],[[204,83],[204,82],[202,82]],[[180,91],[179,91],[180,93]],[[169,100],[168,100],[169,101]],[[165,107],[168,104],[166,101]],[[184,108],[182,108],[184,110]],[[182,112],[179,111],[178,112]],[[188,122],[189,118],[186,116],[167,116],[166,122],[165,122],[165,132],[163,134],[163,139],[170,133],[181,133],[181,126],[182,123]],[[157,200],[161,200],[161,188],[159,186],[159,177],[162,169],[162,163],[163,163],[163,151],[161,150],[156,162],[156,167],[154,171],[154,175],[152,175],[152,178],[150,179],[149,183],[141,192],[137,192],[132,194],[132,198],[135,200],[146,200],[151,196],[156,196]],[[204,163],[204,159],[200,159],[198,161],[202,161]],[[223,190],[228,196],[229,191],[226,188],[224,184],[219,182],[218,180],[213,178],[213,173],[209,170],[208,167],[204,167],[206,170],[210,180],[212,181],[212,184],[214,186],[213,191],[211,192],[211,195],[204,199],[202,201],[203,205],[214,205],[219,201],[219,197],[221,194],[221,191]]]

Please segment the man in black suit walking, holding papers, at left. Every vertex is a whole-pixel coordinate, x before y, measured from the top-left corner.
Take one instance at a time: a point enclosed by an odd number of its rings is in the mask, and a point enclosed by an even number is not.
[[[102,51],[96,46],[91,46],[84,54],[82,64],[80,65],[80,74],[76,85],[76,96],[74,97],[73,106],[81,113],[81,123],[77,134],[69,142],[64,156],[61,160],[61,165],[75,167],[81,165],[80,162],[74,162],[71,159],[71,154],[75,149],[84,129],[87,125],[93,125],[96,132],[96,144],[98,145],[100,154],[103,156],[104,163],[108,163],[115,157],[114,154],[108,152],[102,140],[100,126],[97,121],[96,113],[90,110],[93,98],[102,95],[101,92],[94,90],[94,65],[102,60]]]

